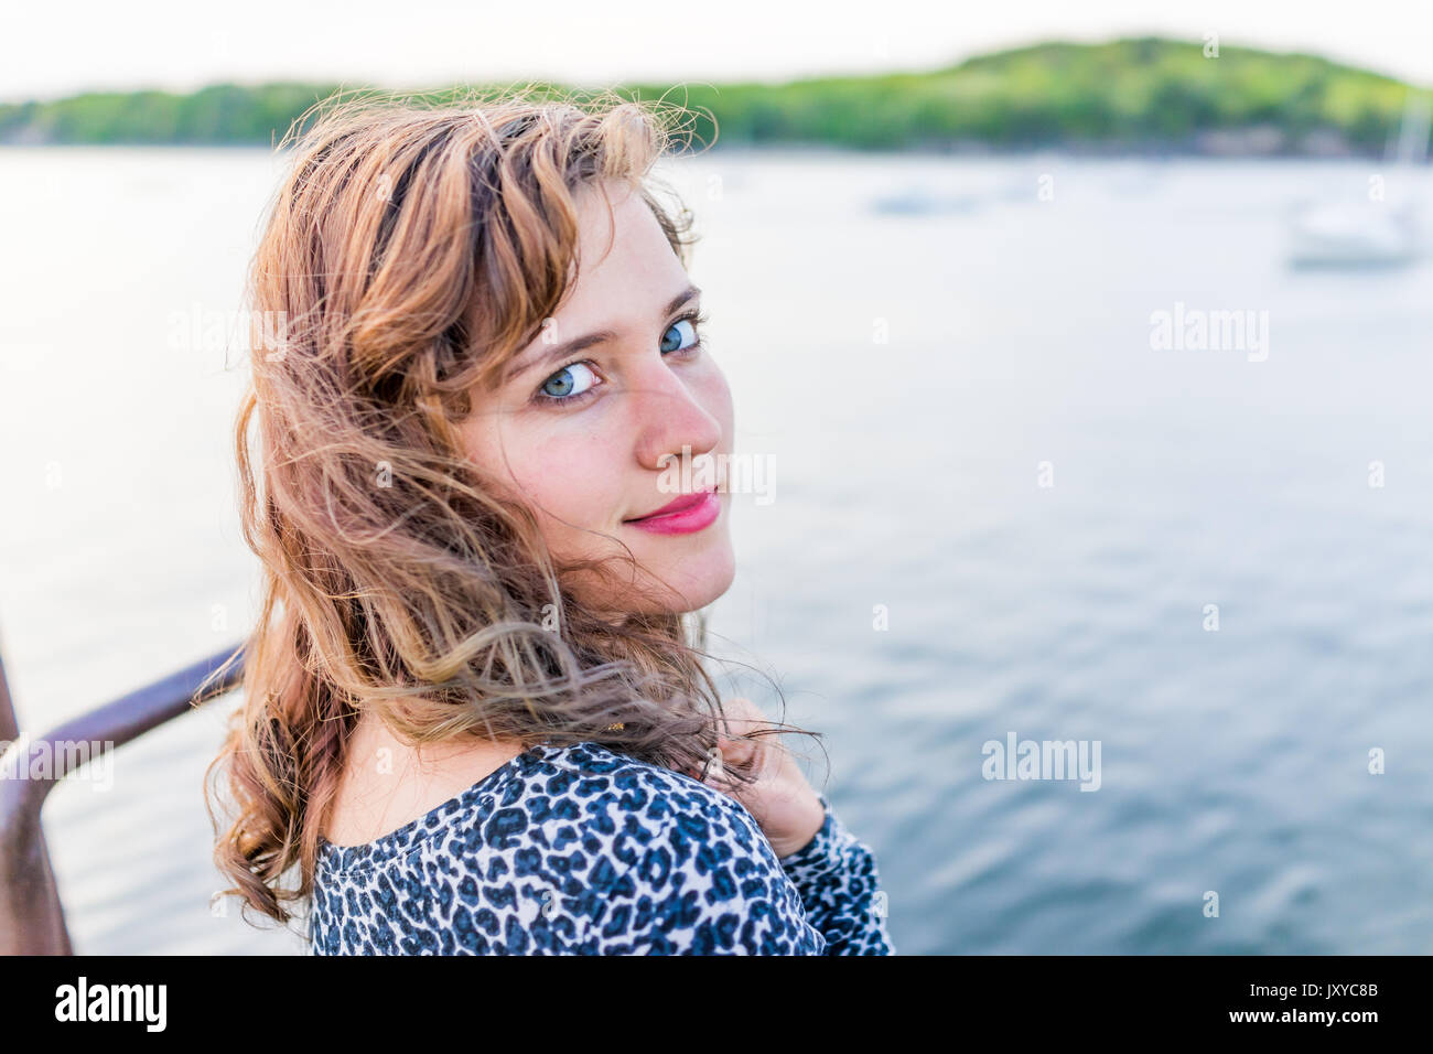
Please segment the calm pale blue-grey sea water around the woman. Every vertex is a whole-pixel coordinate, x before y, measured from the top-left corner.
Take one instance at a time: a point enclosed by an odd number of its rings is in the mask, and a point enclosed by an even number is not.
[[[0,634],[30,730],[254,617],[224,328],[278,171],[0,151]],[[1433,951],[1433,264],[1283,257],[1293,206],[1364,201],[1376,169],[666,172],[738,450],[774,469],[712,628],[824,733],[813,779],[876,849],[898,951]],[[1156,350],[1176,305],[1267,343]],[[211,911],[201,782],[235,701],[52,796],[77,951],[301,949]],[[1012,733],[1098,741],[1098,792],[984,779]]]

